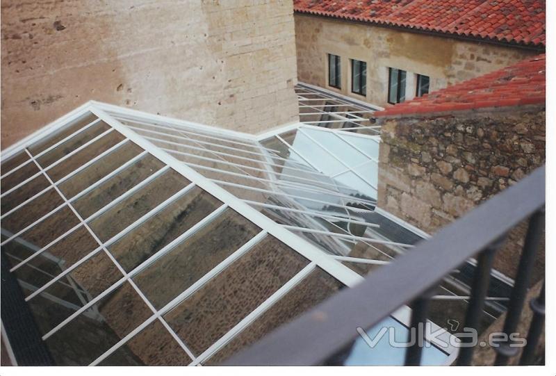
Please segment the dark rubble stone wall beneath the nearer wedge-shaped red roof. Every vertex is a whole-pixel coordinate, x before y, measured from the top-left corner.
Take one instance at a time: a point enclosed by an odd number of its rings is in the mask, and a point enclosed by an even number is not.
[[[384,120],[378,206],[434,233],[545,161],[543,106]],[[509,234],[495,267],[516,271],[526,226]],[[543,249],[533,282],[543,275]]]

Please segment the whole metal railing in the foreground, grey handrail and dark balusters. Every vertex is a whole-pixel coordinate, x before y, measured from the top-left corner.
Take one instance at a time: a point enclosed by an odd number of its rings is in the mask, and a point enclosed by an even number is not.
[[[357,338],[356,327],[370,328],[404,304],[413,307],[410,328],[415,330],[427,319],[432,291],[446,275],[473,256],[477,268],[471,286],[464,327],[477,329],[489,286],[493,257],[506,235],[528,220],[525,245],[519,260],[512,295],[502,332],[507,338],[496,350],[496,365],[516,357],[519,348],[512,336],[520,322],[528,285],[544,229],[545,167],[502,191],[443,227],[430,240],[419,243],[369,275],[354,288],[346,288],[296,320],[279,327],[234,357],[226,366],[310,366],[329,364]],[[544,287],[530,302],[534,313],[520,364],[530,364],[543,332]],[[411,330],[410,330],[411,333]],[[463,340],[465,341],[465,340]],[[407,348],[405,365],[419,365],[419,341]],[[456,364],[469,365],[475,347],[461,347]]]

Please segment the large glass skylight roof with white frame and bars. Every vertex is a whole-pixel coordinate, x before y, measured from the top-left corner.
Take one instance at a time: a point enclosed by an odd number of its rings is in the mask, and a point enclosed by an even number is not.
[[[378,150],[91,102],[3,154],[2,257],[57,364],[219,363],[420,240],[375,208]]]

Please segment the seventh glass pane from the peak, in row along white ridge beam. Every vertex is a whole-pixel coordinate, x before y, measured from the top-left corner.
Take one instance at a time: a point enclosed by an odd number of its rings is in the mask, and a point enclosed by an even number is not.
[[[218,199],[195,187],[108,250],[130,272],[221,205]]]

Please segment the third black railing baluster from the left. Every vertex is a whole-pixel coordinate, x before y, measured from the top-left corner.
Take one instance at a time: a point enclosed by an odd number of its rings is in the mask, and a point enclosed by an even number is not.
[[[525,295],[527,294],[534,259],[539,249],[543,229],[544,210],[541,210],[534,213],[529,220],[529,227],[527,229],[527,235],[525,236],[525,245],[523,245],[523,251],[519,259],[516,281],[512,289],[512,295],[509,298],[507,316],[504,322],[504,329],[502,329],[507,340],[494,348],[497,352],[496,360],[494,361],[496,366],[504,366],[507,364],[510,357],[514,357],[519,352],[519,348],[512,346],[513,342],[509,339],[509,336],[516,332],[519,324],[519,318],[521,317],[521,311],[523,311]]]

